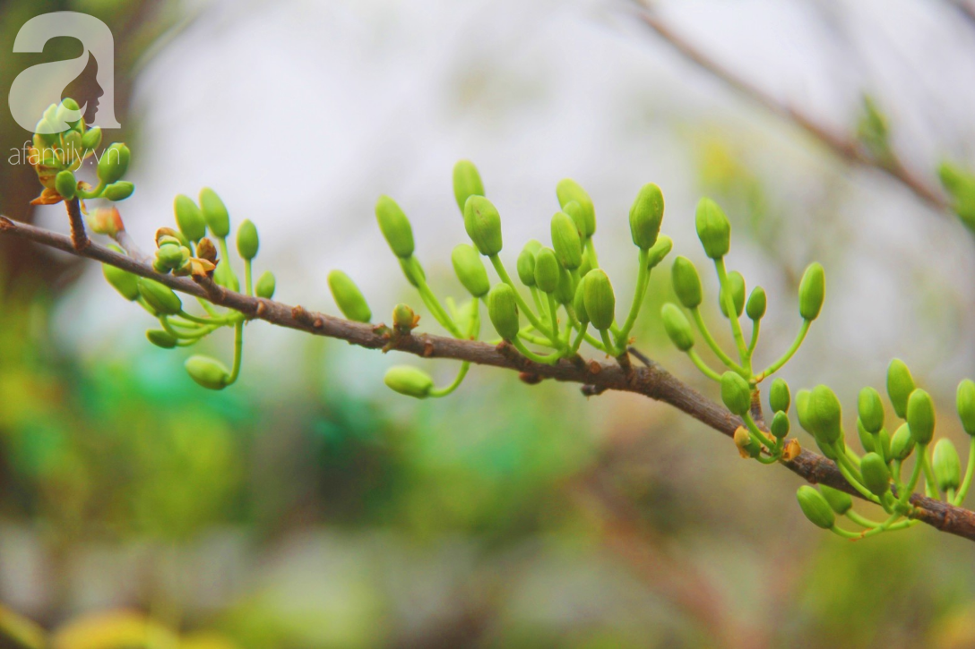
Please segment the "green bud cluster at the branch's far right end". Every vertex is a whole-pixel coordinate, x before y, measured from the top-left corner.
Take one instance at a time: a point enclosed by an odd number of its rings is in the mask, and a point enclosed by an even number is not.
[[[846,481],[860,495],[886,512],[883,520],[871,520],[853,510],[848,494],[821,485],[804,486],[797,497],[809,520],[839,536],[860,539],[881,532],[905,529],[917,524],[909,516],[910,497],[923,479],[924,493],[959,506],[975,474],[975,383],[965,379],[958,385],[957,413],[970,438],[968,466],[962,475],[961,461],[951,439],[934,442],[935,408],[930,395],[915,385],[911,370],[895,359],[887,368],[887,397],[899,423],[884,426],[885,411],[877,390],[866,387],[857,399],[857,437],[864,453],[846,443],[839,399],[820,385],[796,395],[800,426],[808,432],[826,457],[834,460]],[[896,426],[896,428],[895,428]],[[890,433],[889,431],[893,431]],[[908,463],[913,466],[908,467]],[[839,527],[837,515],[859,529]]]

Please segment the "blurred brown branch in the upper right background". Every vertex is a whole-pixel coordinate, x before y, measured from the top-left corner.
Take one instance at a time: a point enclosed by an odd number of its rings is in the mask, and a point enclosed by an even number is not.
[[[825,144],[827,148],[846,162],[861,167],[877,169],[886,173],[889,177],[897,180],[911,190],[917,198],[934,210],[945,211],[951,209],[951,203],[937,185],[932,185],[916,173],[911,172],[897,156],[885,156],[881,159],[870,155],[866,148],[856,139],[834,133],[829,127],[818,122],[814,117],[803,113],[795,106],[779,101],[730,68],[708,57],[703,51],[672,29],[666,21],[658,18],[651,10],[645,8],[641,0],[637,0],[637,2],[643,6],[643,11],[640,12],[640,19],[643,20],[646,26],[656,32],[658,36],[663,38],[665,42],[670,44],[687,60],[720,79],[734,91],[757,101],[772,113],[796,124],[807,134],[812,135],[822,144]]]

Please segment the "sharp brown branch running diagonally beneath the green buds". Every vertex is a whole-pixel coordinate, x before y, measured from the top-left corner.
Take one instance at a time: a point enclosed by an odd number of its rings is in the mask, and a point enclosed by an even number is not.
[[[423,358],[468,361],[514,369],[557,381],[579,383],[592,394],[600,394],[606,390],[632,392],[669,403],[727,437],[733,436],[735,429],[743,425],[738,417],[732,415],[722,405],[702,396],[659,363],[650,359],[645,359],[646,366],[632,367],[632,371],[626,371],[618,363],[597,361],[577,364],[564,359],[552,365],[532,363],[518,354],[513,354],[513,350],[506,343],[495,347],[475,340],[458,340],[430,334],[405,335],[394,341],[386,333],[388,329],[384,326],[353,323],[324,313],[308,311],[301,306],[291,307],[273,300],[250,297],[217,286],[206,278],[194,281],[173,275],[160,275],[153,271],[151,266],[139,263],[132,257],[119,254],[110,248],[90,244],[78,250],[74,248],[71,239],[64,235],[13,221],[5,216],[0,216],[0,235],[20,237],[43,246],[95,259],[140,277],[151,278],[174,290],[204,297],[218,306],[239,311],[245,316],[272,325],[338,338],[368,349],[391,347]],[[837,466],[821,455],[803,450],[795,460],[782,464],[809,482],[828,484],[860,497],[860,494],[839,473]],[[943,532],[975,541],[975,512],[918,494],[911,497],[911,503],[915,506],[913,517],[918,520]]]

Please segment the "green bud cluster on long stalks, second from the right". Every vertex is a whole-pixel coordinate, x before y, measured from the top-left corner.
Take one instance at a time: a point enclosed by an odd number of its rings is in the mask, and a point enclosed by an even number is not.
[[[770,436],[762,432],[752,416],[752,404],[758,400],[759,383],[792,359],[805,339],[809,325],[819,317],[826,291],[823,267],[818,263],[812,263],[802,275],[799,288],[799,313],[802,322],[793,344],[778,360],[757,371],[753,358],[759,343],[761,319],[765,315],[767,306],[765,291],[761,286],[756,286],[746,299],[745,278],[738,271],[727,270],[724,257],[731,248],[731,223],[717,203],[707,198],[698,202],[695,226],[701,246],[715,266],[719,283],[718,307],[722,316],[728,321],[731,337],[735,342],[737,359],[732,358],[722,349],[705,323],[701,314],[701,304],[704,302],[701,279],[694,263],[687,257],[679,256],[674,260],[671,266],[671,280],[674,293],[683,309],[690,313],[690,319],[681,307],[671,303],[665,304],[660,313],[664,330],[674,346],[686,354],[705,376],[721,383],[724,405],[731,412],[739,415],[744,423],[735,435],[735,444],[742,457],[755,458],[767,464],[780,459],[790,460],[799,454],[799,442],[795,439],[786,441],[785,437],[789,429],[788,426],[783,428],[781,423]],[[743,315],[747,316],[752,324],[751,335],[747,341],[741,325]],[[717,360],[724,365],[725,371],[715,370],[697,353],[694,347],[695,328]],[[782,388],[776,387],[780,385],[773,382],[773,391],[781,393]],[[788,388],[786,388],[785,402],[788,408]],[[775,410],[775,412],[778,414],[780,411]]]

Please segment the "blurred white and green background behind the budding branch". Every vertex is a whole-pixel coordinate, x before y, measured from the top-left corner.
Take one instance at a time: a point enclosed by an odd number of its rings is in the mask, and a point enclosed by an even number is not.
[[[900,160],[935,189],[941,160],[975,164],[963,0],[650,9],[842,137],[872,96]],[[133,148],[138,191],[120,209],[143,246],[173,224],[176,194],[212,186],[257,224],[276,297],[334,313],[325,277],[341,268],[388,320],[419,300],[375,199],[400,202],[433,285],[459,296],[458,159],[482,172],[510,264],[547,240],[556,183],[578,180],[621,295],[643,183],[663,188],[674,254],[701,264],[692,215],[706,194],[732,220],[730,265],[769,294],[760,360],[793,338],[798,279],[820,260],[827,304],[782,372],[793,390],[826,382],[852,404],[897,356],[961,443],[968,231],[730,90],[637,4],[3,0],[3,88],[79,56],[67,38],[11,54],[26,19],[64,10],[115,35],[123,131],[107,141]],[[96,64],[65,94],[97,93]],[[66,231],[61,208],[28,209],[34,172],[8,160],[28,137],[0,109],[0,211]],[[639,346],[717,398],[655,317],[673,299],[667,272],[649,294]],[[0,295],[0,647],[35,646],[26,620],[66,649],[975,646],[969,544],[923,525],[862,544],[822,533],[796,506],[798,477],[741,461],[668,406],[490,368],[450,399],[411,401],[383,386],[386,367],[455,367],[263,323],[241,383],[215,394],[182,352],[145,341],[152,320],[98,264],[0,241]],[[204,347],[227,358],[229,342]]]

